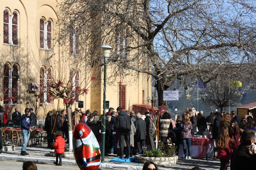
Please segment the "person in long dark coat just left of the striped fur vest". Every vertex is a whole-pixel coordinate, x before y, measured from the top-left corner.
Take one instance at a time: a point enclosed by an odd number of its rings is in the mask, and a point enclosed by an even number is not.
[[[155,142],[154,142],[154,136],[153,136],[153,133],[156,132],[156,129],[154,127],[153,121],[151,120],[150,113],[146,112],[145,115],[146,115],[145,122],[147,125],[146,131],[148,134],[146,137],[149,138],[151,149],[153,149],[153,148],[156,148]]]

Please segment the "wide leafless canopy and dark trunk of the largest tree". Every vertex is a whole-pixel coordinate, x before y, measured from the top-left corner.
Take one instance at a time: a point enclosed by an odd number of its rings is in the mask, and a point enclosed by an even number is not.
[[[254,80],[255,0],[62,0],[66,26],[84,32],[83,47],[115,47],[119,68],[157,80],[159,105],[175,79],[219,76]],[[67,27],[66,27],[67,28]],[[65,28],[64,28],[65,29]],[[92,47],[90,47],[92,46]],[[116,62],[117,61],[117,62]]]

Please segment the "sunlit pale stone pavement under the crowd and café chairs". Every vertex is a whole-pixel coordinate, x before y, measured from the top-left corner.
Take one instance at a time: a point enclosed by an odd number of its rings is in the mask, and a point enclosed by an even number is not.
[[[65,147],[68,148],[68,144],[65,144]],[[0,154],[0,159],[7,160],[32,160],[34,162],[44,162],[51,163],[55,161],[55,157],[50,156],[50,149],[46,146],[30,146],[27,147],[26,152],[29,153],[27,156],[21,156],[21,147],[18,145],[14,151],[2,152]],[[217,152],[216,152],[217,154]],[[112,158],[116,158],[115,154],[105,157],[105,162],[101,163],[101,168],[112,168],[112,169],[131,169],[131,170],[142,170],[143,164],[137,166],[135,163],[126,163],[126,164],[115,164],[114,162],[108,162]],[[63,164],[76,164],[74,158],[62,158]],[[198,160],[191,159],[185,160],[183,158],[178,158],[178,164],[170,166],[159,166],[160,170],[188,170],[193,167],[200,167],[206,170],[218,170],[220,169],[220,160],[213,160],[213,158],[208,158],[208,160]],[[230,170],[230,166],[228,167]]]

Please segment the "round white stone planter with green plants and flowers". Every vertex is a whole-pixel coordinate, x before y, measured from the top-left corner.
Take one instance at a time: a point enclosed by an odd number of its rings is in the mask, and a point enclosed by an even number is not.
[[[161,140],[158,143],[158,149],[152,149],[150,151],[145,151],[142,155],[137,155],[135,157],[136,162],[145,163],[147,161],[153,161],[157,165],[171,165],[177,164],[178,156],[176,155],[176,146],[172,143],[171,138],[169,138],[164,144]]]

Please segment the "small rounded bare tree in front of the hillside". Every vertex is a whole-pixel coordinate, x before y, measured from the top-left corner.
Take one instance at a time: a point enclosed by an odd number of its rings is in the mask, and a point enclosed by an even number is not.
[[[236,106],[238,101],[242,98],[238,87],[230,87],[228,83],[224,82],[210,82],[207,87],[202,90],[202,99],[208,105],[220,108],[229,106]]]

